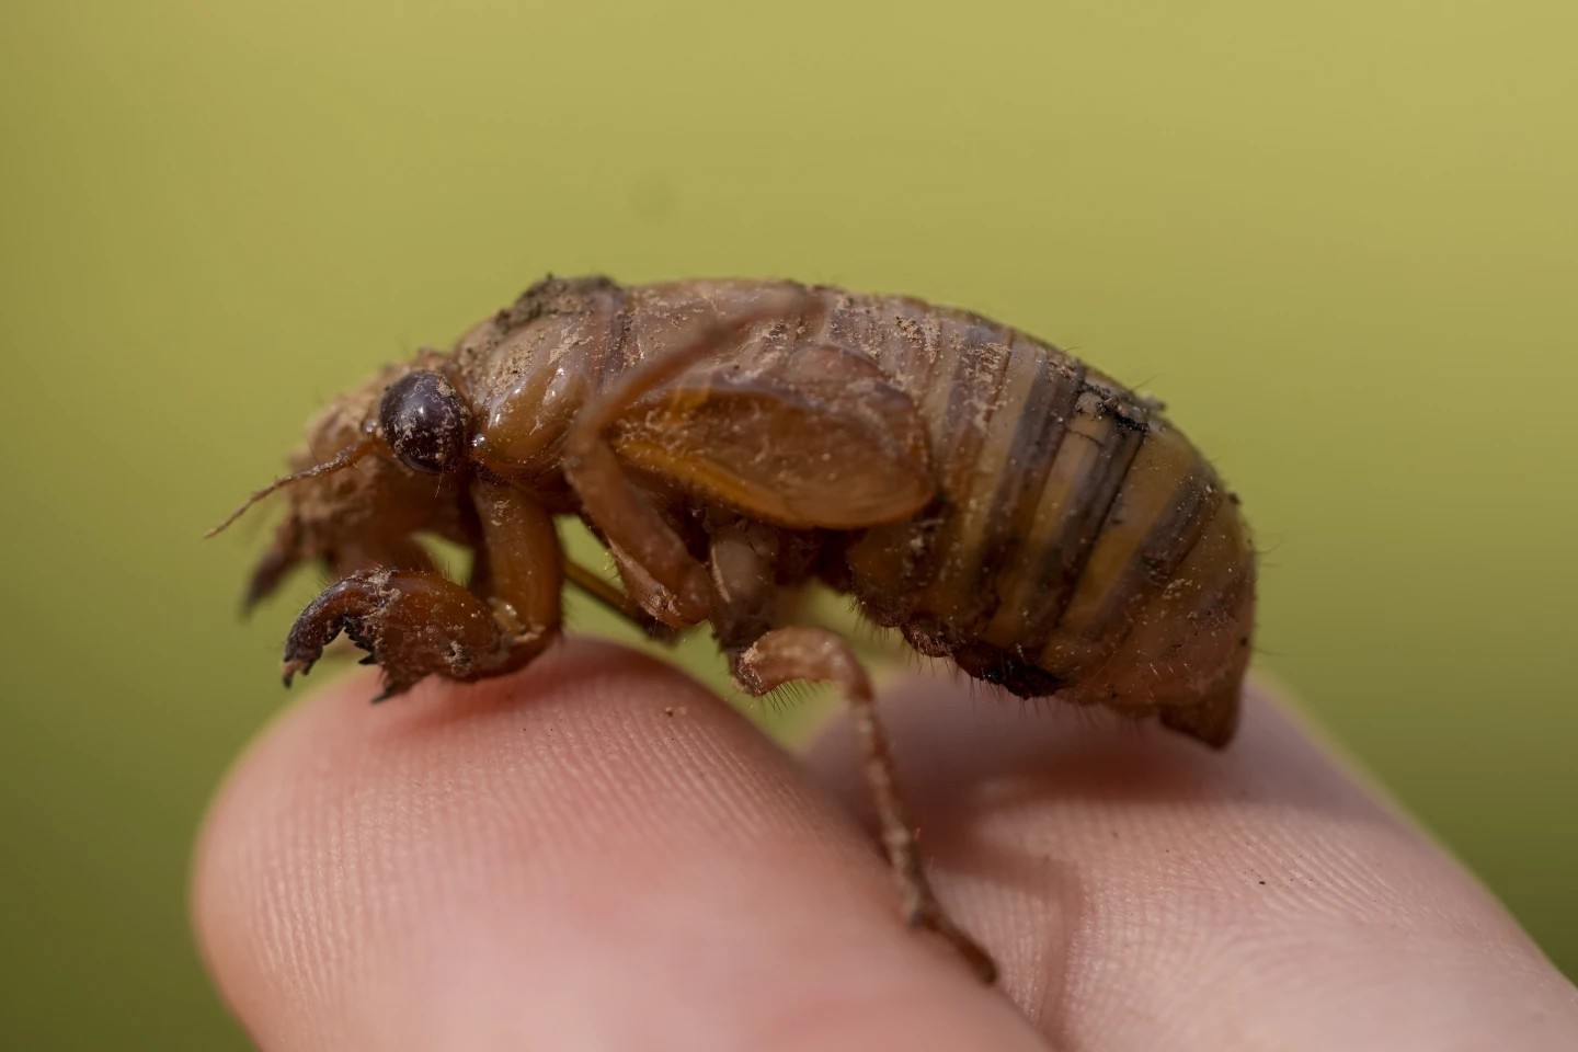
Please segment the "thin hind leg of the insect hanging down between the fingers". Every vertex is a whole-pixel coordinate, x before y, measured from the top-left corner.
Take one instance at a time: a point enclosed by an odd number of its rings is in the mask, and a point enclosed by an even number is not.
[[[735,681],[756,696],[792,680],[822,680],[844,694],[860,743],[862,773],[882,826],[882,847],[903,897],[904,921],[937,932],[983,983],[996,981],[997,965],[991,954],[953,923],[926,879],[915,823],[906,812],[893,751],[860,659],[844,639],[824,628],[768,628],[783,593],[773,584],[773,555],[770,533],[753,532],[750,525],[713,535],[712,569],[721,596],[713,625]]]

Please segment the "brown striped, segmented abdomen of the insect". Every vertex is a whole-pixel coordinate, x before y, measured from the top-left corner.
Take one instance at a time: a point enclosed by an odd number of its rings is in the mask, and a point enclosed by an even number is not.
[[[866,612],[1016,694],[1231,738],[1255,558],[1234,498],[1182,432],[975,315],[860,300],[835,312],[835,338],[849,314],[866,323],[854,345],[922,408],[940,491],[926,514],[851,547]]]

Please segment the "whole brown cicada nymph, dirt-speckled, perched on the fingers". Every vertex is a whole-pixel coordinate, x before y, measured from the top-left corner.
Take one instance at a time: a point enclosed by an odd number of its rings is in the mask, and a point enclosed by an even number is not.
[[[991,981],[926,882],[865,670],[844,639],[794,623],[794,595],[849,593],[1023,697],[1226,744],[1255,558],[1237,500],[1160,408],[918,300],[551,278],[309,426],[331,456],[297,454],[252,497],[289,486],[290,511],[248,602],[327,563],[339,580],[290,629],[286,683],[344,632],[383,666],[380,697],[522,667],[559,636],[567,584],[653,634],[709,621],[751,694],[835,683],[906,920]],[[571,514],[622,591],[565,557],[554,519]],[[472,549],[470,580],[440,576],[418,535]]]

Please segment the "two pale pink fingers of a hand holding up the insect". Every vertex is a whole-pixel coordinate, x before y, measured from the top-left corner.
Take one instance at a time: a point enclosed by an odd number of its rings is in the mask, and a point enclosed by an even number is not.
[[[1502,908],[1264,697],[1221,754],[972,683],[885,699],[993,989],[901,926],[841,729],[797,762],[584,642],[372,692],[284,714],[199,847],[199,937],[267,1052],[1578,1041],[1578,994]]]

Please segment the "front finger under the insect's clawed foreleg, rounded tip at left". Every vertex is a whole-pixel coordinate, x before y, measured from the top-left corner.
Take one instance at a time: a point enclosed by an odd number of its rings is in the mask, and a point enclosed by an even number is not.
[[[907,932],[858,826],[679,673],[571,644],[284,714],[216,800],[199,942],[267,1052],[1043,1049]]]

